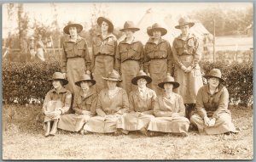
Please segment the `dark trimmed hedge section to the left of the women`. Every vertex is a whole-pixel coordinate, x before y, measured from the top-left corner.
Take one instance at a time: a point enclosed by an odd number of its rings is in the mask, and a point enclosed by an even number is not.
[[[60,71],[56,61],[3,63],[3,101],[23,104],[36,98],[42,103],[52,87],[48,80],[55,71]]]

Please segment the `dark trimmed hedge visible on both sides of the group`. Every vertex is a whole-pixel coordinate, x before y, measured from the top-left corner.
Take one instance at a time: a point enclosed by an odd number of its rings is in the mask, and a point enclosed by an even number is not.
[[[230,102],[247,106],[253,102],[253,63],[226,64],[225,62],[201,62],[203,74],[212,68],[222,71],[225,85],[230,92]],[[29,103],[36,98],[41,103],[52,85],[49,78],[55,71],[60,71],[57,61],[38,63],[3,63],[3,101],[4,103]]]

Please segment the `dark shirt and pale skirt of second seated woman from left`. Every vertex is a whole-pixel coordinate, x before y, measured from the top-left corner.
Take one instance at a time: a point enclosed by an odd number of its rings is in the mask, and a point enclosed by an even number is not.
[[[94,90],[84,96],[82,90],[74,96],[73,110],[75,114],[62,115],[58,128],[67,131],[80,131],[90,117],[96,115],[97,94]]]

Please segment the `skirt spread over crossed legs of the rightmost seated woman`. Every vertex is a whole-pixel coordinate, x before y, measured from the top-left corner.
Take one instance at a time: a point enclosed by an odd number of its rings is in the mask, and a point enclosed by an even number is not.
[[[231,115],[228,113],[223,113],[219,115],[218,120],[216,120],[215,125],[211,127],[205,126],[204,120],[200,115],[192,115],[190,121],[193,125],[197,126],[199,133],[206,132],[207,134],[222,134],[225,132],[238,132],[236,127],[231,121]]]

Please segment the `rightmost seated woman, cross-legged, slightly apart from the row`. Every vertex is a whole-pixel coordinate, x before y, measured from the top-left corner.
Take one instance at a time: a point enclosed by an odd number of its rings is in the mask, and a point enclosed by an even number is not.
[[[228,109],[229,92],[222,84],[221,72],[212,69],[207,78],[207,85],[201,87],[196,97],[196,114],[190,121],[197,126],[199,133],[222,134],[237,132],[231,122],[231,114]]]

